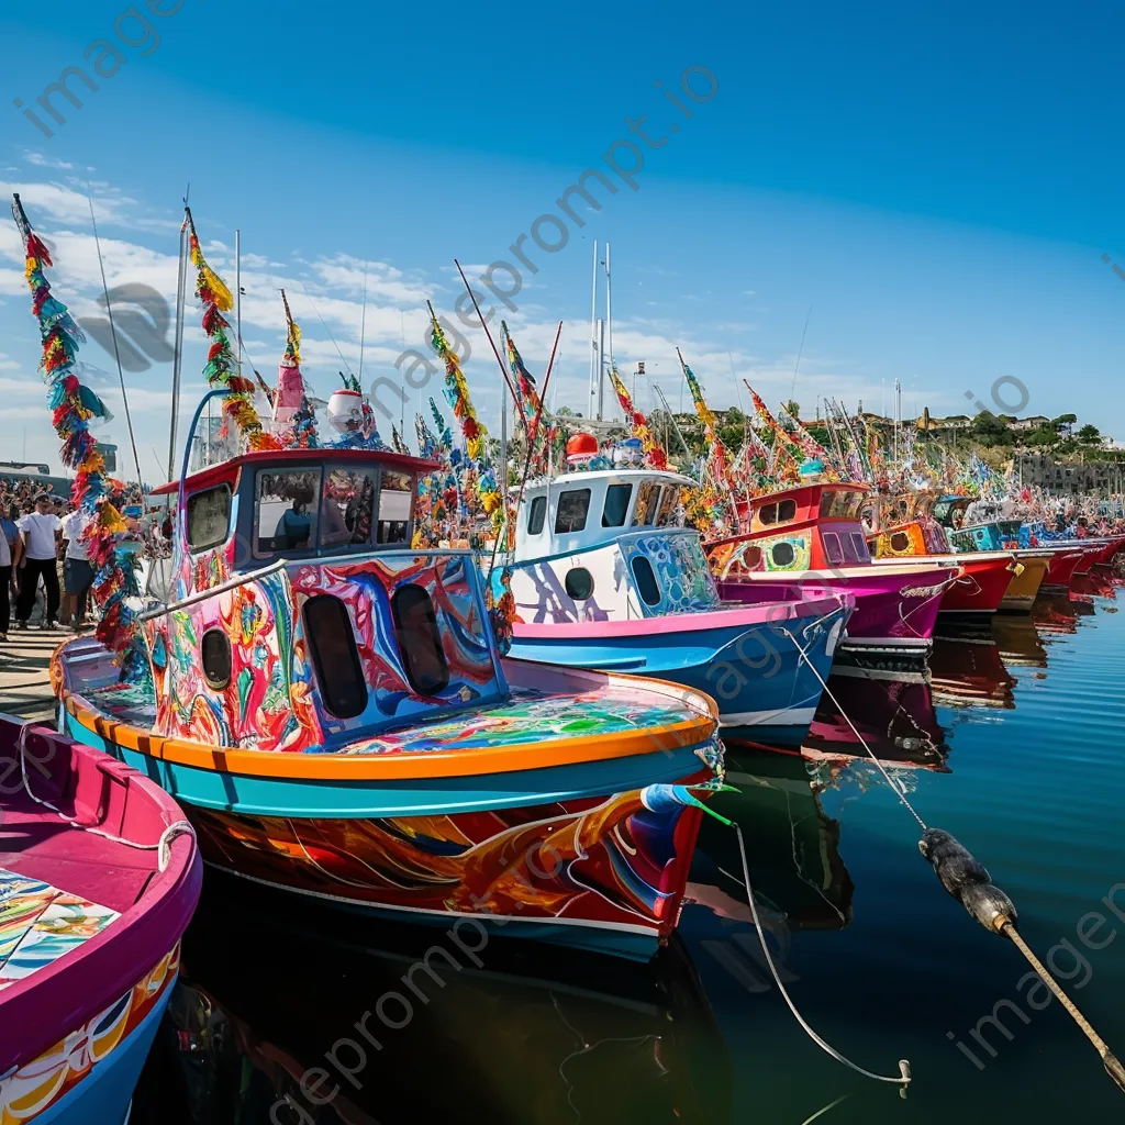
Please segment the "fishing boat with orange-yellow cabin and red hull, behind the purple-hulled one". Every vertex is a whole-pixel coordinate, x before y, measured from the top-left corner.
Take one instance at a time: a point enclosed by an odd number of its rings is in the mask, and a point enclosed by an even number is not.
[[[945,528],[933,515],[932,489],[880,496],[865,510],[867,546],[882,566],[904,559],[942,562],[952,558]],[[942,597],[943,614],[996,613],[1004,604],[1019,564],[1015,552],[966,551],[956,557],[963,574]]]

